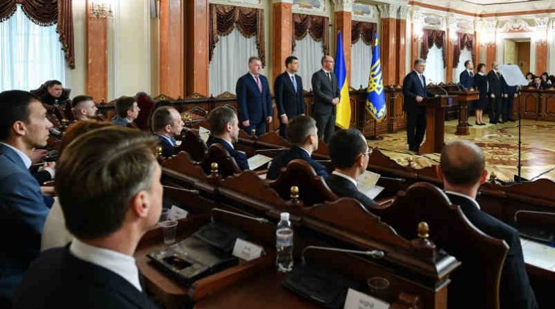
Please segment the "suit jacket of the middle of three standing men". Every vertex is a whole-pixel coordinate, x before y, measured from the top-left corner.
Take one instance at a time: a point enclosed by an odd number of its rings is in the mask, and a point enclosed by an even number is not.
[[[289,78],[289,73],[283,72],[275,78],[274,92],[275,105],[278,106],[278,115],[286,114],[288,118],[305,113],[305,98],[302,94],[302,78],[295,74],[297,91]]]

